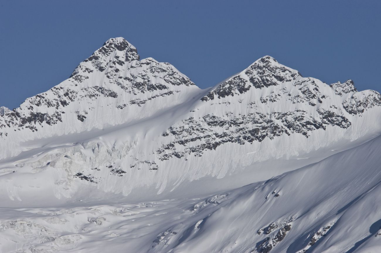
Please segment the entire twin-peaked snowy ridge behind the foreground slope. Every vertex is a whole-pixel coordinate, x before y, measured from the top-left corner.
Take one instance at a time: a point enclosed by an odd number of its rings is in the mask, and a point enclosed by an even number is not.
[[[270,56],[201,90],[112,38],[0,117],[0,197],[13,206],[85,189],[137,199],[237,188],[369,140],[380,112],[378,92],[303,78]]]

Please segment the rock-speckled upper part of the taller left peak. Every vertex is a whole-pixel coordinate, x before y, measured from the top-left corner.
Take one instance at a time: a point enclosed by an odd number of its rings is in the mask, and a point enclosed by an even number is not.
[[[102,81],[102,78],[95,75],[102,76],[105,80]],[[99,84],[94,85],[94,82]],[[115,99],[115,102],[112,102],[115,103],[114,108],[123,109],[134,105],[141,107],[152,99],[180,92],[171,89],[180,85],[195,84],[169,63],[160,63],[152,58],[139,61],[134,46],[123,38],[112,38],[80,63],[66,80],[66,84],[60,84],[28,98],[24,102],[28,105],[27,110],[20,107],[10,113],[7,111],[6,115],[3,113],[0,118],[0,137],[8,135],[2,131],[5,127],[12,127],[16,131],[27,128],[35,132],[40,126],[61,123],[65,107],[73,103],[110,98]],[[123,95],[127,93],[130,96],[130,100],[117,104],[120,89]],[[52,112],[51,108],[55,111]],[[85,122],[90,116],[88,112],[93,109],[94,107],[89,107],[86,111],[75,112],[72,116]]]

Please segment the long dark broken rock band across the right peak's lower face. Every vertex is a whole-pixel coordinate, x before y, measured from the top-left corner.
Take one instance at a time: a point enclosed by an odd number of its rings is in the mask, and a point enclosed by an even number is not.
[[[160,159],[182,158],[186,154],[202,156],[206,150],[216,150],[224,143],[262,142],[265,138],[274,139],[292,133],[309,137],[311,131],[326,129],[327,126],[338,126],[347,129],[351,122],[343,116],[324,109],[317,110],[317,117],[311,117],[307,111],[296,110],[287,113],[271,114],[248,113],[233,116],[227,112],[223,118],[208,114],[200,119],[188,118],[177,126],[171,126],[163,137],[174,136],[171,141],[157,150]],[[197,144],[195,144],[197,143]],[[186,147],[184,151],[176,151],[177,146]]]

